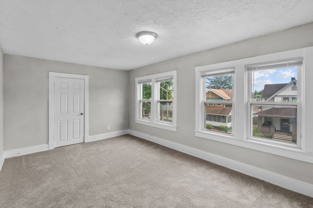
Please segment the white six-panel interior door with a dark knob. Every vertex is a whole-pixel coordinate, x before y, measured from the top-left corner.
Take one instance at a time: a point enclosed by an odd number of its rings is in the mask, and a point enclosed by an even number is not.
[[[84,142],[84,79],[54,78],[54,147]]]

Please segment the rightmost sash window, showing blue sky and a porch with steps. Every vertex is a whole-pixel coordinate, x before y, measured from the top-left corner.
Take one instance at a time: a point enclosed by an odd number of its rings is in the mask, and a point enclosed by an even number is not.
[[[250,139],[274,142],[276,145],[290,144],[300,147],[300,124],[297,122],[300,113],[301,92],[294,90],[298,72],[302,70],[302,58],[292,58],[246,65],[248,82],[251,89],[249,98],[251,133]],[[255,95],[262,91],[262,100],[257,101]],[[288,96],[286,96],[288,95]],[[291,102],[293,100],[297,102]],[[282,105],[287,102],[288,105]],[[256,122],[253,122],[256,120]]]

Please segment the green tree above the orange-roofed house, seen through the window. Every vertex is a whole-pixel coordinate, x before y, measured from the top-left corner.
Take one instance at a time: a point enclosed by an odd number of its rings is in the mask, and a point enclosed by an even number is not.
[[[220,89],[223,90],[233,89],[233,76],[214,76],[212,78],[206,78],[206,89]]]

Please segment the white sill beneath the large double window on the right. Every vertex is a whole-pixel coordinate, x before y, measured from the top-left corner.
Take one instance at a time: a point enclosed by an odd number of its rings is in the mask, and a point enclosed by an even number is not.
[[[313,153],[305,152],[299,148],[294,147],[285,147],[285,146],[277,146],[274,143],[265,143],[256,140],[239,140],[235,136],[230,135],[221,135],[213,132],[206,132],[195,130],[195,136],[201,137],[204,139],[209,139],[217,142],[222,142],[234,146],[239,146],[255,151],[262,151],[274,155],[279,155],[295,160],[300,160],[308,163],[313,163]]]

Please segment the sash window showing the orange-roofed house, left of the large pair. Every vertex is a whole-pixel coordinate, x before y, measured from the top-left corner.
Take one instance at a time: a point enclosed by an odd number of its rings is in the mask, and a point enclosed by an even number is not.
[[[201,73],[202,129],[209,133],[232,135],[232,101],[234,68]]]

